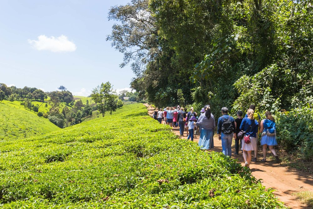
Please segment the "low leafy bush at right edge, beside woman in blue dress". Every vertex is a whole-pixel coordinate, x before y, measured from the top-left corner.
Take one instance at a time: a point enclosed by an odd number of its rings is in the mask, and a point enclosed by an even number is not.
[[[313,110],[307,107],[277,116],[277,139],[286,151],[299,150],[305,159],[313,159]]]

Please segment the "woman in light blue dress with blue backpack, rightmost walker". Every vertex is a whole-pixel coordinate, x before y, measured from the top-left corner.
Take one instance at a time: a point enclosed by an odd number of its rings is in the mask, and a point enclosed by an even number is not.
[[[269,146],[269,150],[274,154],[276,163],[279,163],[280,159],[276,154],[274,146],[277,145],[276,140],[276,123],[275,119],[272,116],[272,113],[269,111],[265,112],[266,119],[261,121],[260,133],[262,133],[261,137],[261,145],[263,146],[263,159],[261,161],[266,162],[266,149]]]

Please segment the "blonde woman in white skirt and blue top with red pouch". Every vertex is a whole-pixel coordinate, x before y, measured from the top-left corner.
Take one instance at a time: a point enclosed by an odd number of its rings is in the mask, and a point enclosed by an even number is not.
[[[240,130],[245,131],[245,137],[249,136],[250,143],[247,144],[244,142],[244,138],[242,139],[242,147],[243,150],[242,155],[245,161],[245,167],[250,167],[251,162],[251,151],[254,150],[257,144],[256,134],[258,133],[259,123],[254,119],[254,110],[248,109],[247,111],[248,118],[244,118],[240,125]]]

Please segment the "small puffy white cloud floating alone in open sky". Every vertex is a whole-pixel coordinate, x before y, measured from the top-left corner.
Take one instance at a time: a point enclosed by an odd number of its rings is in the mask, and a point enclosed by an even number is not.
[[[38,40],[28,39],[28,43],[36,50],[49,50],[52,52],[75,51],[76,45],[67,39],[65,35],[59,37],[47,37],[45,35],[38,36]]]

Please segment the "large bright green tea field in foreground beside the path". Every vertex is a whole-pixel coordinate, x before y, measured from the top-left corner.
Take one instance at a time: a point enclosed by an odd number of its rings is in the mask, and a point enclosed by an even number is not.
[[[249,170],[202,152],[142,104],[0,142],[1,208],[285,208]]]

